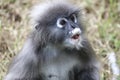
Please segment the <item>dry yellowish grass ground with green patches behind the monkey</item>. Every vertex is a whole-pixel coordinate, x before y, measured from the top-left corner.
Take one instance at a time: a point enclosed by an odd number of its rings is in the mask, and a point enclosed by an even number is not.
[[[103,66],[101,80],[111,80],[113,73],[107,55],[115,52],[117,63],[120,65],[120,1],[71,1],[83,10],[88,37]],[[37,2],[38,0],[0,1],[0,80],[5,75],[11,58],[21,49],[30,31],[28,11]]]

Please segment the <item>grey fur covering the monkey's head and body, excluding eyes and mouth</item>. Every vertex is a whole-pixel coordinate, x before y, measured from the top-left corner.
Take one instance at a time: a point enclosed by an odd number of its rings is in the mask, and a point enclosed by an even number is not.
[[[31,13],[35,29],[12,61],[4,80],[100,80],[99,63],[84,35],[79,9],[56,3],[49,4],[41,14],[39,10]],[[71,22],[71,14],[77,16],[78,22]],[[63,29],[56,25],[61,17],[68,20]],[[75,34],[70,32],[79,33],[80,37],[71,39]]]

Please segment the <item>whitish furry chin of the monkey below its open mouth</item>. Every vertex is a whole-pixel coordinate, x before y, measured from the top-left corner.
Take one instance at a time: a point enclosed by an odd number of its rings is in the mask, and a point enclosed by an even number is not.
[[[64,46],[67,48],[76,48],[77,50],[79,50],[82,46],[82,38],[79,37],[77,39],[73,39],[73,38],[67,38],[64,41]]]

